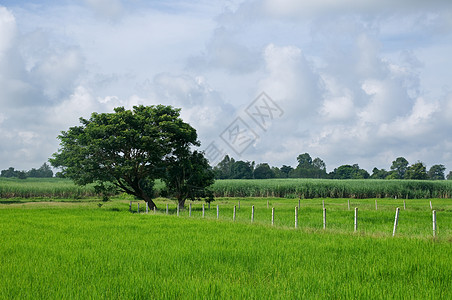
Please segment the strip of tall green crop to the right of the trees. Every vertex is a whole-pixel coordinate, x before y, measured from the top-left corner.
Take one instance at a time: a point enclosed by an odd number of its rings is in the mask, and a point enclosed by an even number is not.
[[[217,197],[450,198],[452,181],[259,179],[217,180]]]

